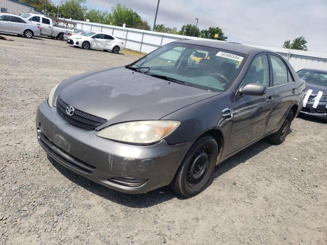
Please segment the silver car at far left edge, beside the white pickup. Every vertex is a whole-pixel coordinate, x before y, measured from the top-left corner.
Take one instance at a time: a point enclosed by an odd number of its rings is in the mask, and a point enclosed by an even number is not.
[[[0,32],[32,38],[40,36],[40,25],[15,14],[0,13]]]

